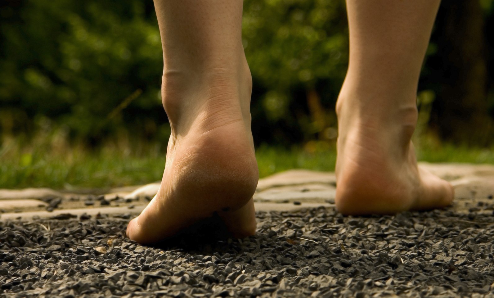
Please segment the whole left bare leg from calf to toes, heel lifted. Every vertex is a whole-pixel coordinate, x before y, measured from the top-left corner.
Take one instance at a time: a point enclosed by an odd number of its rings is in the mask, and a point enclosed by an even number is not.
[[[255,231],[258,179],[241,0],[155,0],[163,44],[162,98],[171,126],[161,188],[127,227],[156,242],[218,214],[234,236]]]

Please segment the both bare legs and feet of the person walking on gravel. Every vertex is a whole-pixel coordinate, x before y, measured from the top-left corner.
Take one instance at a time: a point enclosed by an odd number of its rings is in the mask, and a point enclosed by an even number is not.
[[[417,167],[410,141],[438,5],[347,1],[350,63],[336,105],[336,207],[342,213],[422,210],[453,200],[451,185]],[[242,0],[155,0],[171,135],[160,190],[127,227],[132,240],[157,242],[213,214],[234,237],[255,233],[258,170],[242,6]]]

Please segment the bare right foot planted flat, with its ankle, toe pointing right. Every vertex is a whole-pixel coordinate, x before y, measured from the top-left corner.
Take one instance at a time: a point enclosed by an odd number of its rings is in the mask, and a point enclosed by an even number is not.
[[[413,106],[362,106],[342,92],[337,103],[336,208],[343,214],[389,214],[448,206],[453,187],[417,167]]]

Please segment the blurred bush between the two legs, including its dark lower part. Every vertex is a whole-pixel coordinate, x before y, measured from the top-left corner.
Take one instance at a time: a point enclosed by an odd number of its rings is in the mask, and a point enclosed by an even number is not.
[[[257,100],[270,126],[290,121],[306,139],[333,138],[325,132],[348,63],[344,1],[245,1],[243,38],[252,76],[267,89]]]

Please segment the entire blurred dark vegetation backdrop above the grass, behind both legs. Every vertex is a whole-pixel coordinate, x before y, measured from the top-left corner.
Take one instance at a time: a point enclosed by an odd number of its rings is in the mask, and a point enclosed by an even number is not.
[[[0,146],[40,134],[94,148],[166,143],[151,0],[3,0],[0,18]],[[492,0],[441,4],[419,84],[422,133],[494,142],[493,23]],[[256,144],[334,142],[348,62],[344,1],[246,0],[243,41]]]

